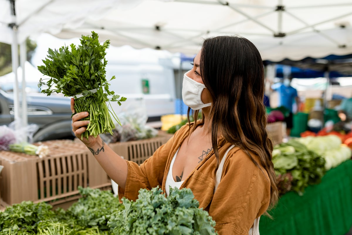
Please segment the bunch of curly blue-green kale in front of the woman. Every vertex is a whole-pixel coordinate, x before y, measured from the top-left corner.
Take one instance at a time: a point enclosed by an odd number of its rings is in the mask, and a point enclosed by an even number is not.
[[[158,187],[139,190],[133,202],[122,198],[125,209],[114,212],[108,222],[113,234],[194,234],[215,235],[215,221],[189,188],[170,188],[165,198]]]

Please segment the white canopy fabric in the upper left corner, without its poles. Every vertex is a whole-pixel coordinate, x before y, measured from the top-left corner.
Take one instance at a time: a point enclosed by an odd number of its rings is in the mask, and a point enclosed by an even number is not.
[[[13,42],[9,24],[17,25],[18,43],[39,33],[59,33],[76,28],[90,19],[99,19],[109,10],[123,11],[142,0],[0,0],[0,42]],[[15,5],[15,17],[11,11]]]

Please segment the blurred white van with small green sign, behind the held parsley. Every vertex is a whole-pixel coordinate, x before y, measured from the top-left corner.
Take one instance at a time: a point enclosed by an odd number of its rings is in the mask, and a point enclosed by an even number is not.
[[[112,103],[115,113],[144,107],[148,122],[159,121],[162,115],[175,113],[175,75],[172,55],[149,48],[136,50],[130,46],[107,50],[106,78],[113,75],[110,90],[124,96],[121,106]]]

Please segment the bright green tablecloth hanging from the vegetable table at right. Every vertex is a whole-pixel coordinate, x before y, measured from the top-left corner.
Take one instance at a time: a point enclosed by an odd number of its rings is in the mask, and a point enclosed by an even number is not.
[[[346,234],[352,226],[352,160],[328,171],[303,196],[284,194],[269,214],[274,220],[260,217],[260,235]]]

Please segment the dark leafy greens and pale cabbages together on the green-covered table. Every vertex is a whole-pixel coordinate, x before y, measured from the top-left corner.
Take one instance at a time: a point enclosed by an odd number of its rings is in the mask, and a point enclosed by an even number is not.
[[[342,144],[349,135],[309,134],[290,139],[274,147],[272,161],[277,175],[279,192],[296,191],[303,194],[308,185],[319,184],[321,178],[331,168],[337,167],[352,156],[352,150]]]

